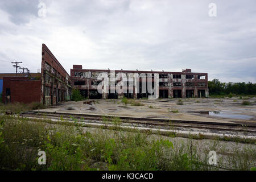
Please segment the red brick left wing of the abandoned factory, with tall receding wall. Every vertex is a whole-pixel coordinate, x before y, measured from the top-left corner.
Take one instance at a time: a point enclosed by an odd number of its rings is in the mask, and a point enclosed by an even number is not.
[[[41,102],[55,105],[71,99],[71,78],[45,44],[42,44],[41,73],[1,75],[2,101],[5,104]]]

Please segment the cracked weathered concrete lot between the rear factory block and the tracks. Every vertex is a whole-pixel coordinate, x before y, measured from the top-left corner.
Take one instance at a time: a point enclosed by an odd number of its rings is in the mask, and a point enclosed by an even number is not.
[[[156,119],[157,121],[194,121],[208,123],[255,123],[256,106],[241,106],[241,101],[233,102],[233,99],[196,98],[183,100],[183,105],[177,105],[176,99],[167,100],[141,100],[142,106],[124,105],[121,100],[95,100],[92,104],[84,104],[84,101],[70,101],[48,109],[40,110],[49,113],[84,114],[84,115],[108,115],[121,118]],[[255,99],[251,99],[255,103]],[[172,113],[179,110],[179,113]],[[234,113],[250,115],[252,119],[234,119],[214,117],[189,111],[221,111],[229,110]]]

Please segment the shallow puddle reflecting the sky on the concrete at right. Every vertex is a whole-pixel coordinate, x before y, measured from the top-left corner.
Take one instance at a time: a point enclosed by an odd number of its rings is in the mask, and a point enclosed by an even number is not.
[[[188,111],[188,113],[199,113],[199,114],[212,115],[212,116],[222,117],[222,118],[245,119],[245,120],[254,118],[251,115],[234,114],[234,113],[237,113],[236,111],[234,112],[233,111]]]

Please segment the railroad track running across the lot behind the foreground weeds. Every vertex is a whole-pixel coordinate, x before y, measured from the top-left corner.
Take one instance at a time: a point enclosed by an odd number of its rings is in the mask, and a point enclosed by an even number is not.
[[[41,113],[38,111],[23,113],[20,116],[31,119],[51,119],[54,122],[68,121],[80,123],[86,127],[112,127],[115,126],[110,116],[91,114],[65,114],[65,113]],[[63,118],[63,119],[60,119]],[[236,137],[243,139],[253,139],[256,141],[256,127],[243,126],[241,124],[230,125],[230,123],[198,123],[198,122],[181,122],[181,121],[158,121],[153,118],[131,118],[123,117],[119,123],[122,129],[150,130],[153,133],[175,133],[180,137],[188,135],[203,135],[205,138],[213,139],[214,137]]]

